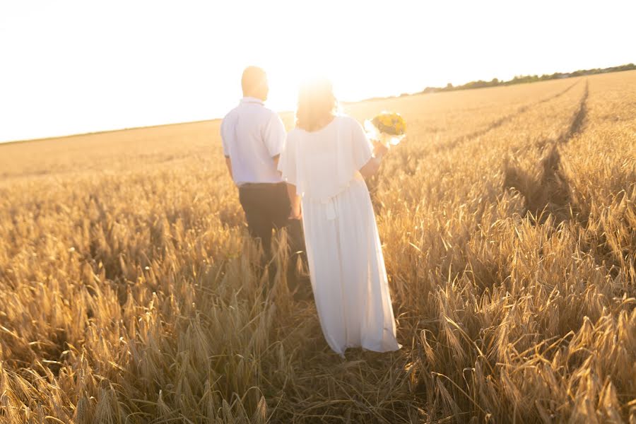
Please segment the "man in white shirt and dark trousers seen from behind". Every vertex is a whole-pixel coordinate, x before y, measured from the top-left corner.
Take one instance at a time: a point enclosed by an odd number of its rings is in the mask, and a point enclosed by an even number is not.
[[[269,259],[272,230],[287,227],[293,266],[298,254],[305,251],[305,242],[300,220],[289,218],[287,185],[276,170],[285,146],[285,126],[278,114],[264,105],[269,85],[263,69],[247,67],[241,86],[243,98],[220,126],[225,163],[239,189],[249,234],[261,241]],[[288,278],[295,280],[293,271],[288,271]]]

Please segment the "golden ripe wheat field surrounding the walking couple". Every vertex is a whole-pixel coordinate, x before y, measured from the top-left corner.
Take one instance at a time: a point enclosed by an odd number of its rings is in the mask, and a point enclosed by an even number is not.
[[[346,360],[220,122],[0,145],[0,422],[636,424],[636,72],[344,105],[384,109],[404,347]]]

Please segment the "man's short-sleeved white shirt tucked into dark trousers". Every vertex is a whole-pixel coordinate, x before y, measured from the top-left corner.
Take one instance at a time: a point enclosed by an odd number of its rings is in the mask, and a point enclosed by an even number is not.
[[[257,98],[242,98],[220,125],[223,154],[232,163],[235,184],[282,182],[273,158],[285,146],[285,126]]]

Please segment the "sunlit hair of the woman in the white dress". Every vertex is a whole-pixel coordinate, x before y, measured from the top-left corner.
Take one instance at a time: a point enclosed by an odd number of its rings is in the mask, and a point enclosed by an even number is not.
[[[334,87],[326,78],[314,78],[302,83],[298,92],[296,126],[305,131],[320,129],[320,124],[338,112]]]

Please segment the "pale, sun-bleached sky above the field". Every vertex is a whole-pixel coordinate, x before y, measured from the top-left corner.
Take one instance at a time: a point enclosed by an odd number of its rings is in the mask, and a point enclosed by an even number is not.
[[[223,117],[245,66],[293,110],[636,62],[636,1],[0,0],[0,141]]]

